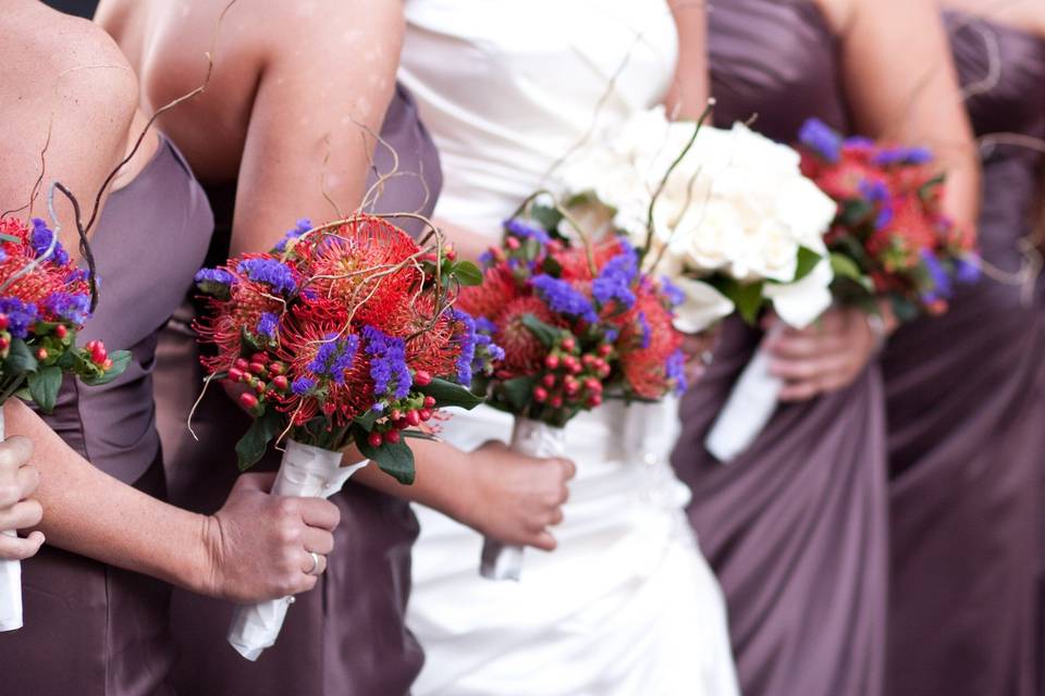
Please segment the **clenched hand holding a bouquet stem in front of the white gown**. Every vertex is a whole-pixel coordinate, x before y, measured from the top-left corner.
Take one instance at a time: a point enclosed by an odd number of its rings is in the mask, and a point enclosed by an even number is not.
[[[459,501],[457,519],[505,544],[554,550],[555,537],[548,527],[563,521],[566,482],[577,472],[574,463],[519,455],[501,442],[484,444],[469,458],[474,495]]]

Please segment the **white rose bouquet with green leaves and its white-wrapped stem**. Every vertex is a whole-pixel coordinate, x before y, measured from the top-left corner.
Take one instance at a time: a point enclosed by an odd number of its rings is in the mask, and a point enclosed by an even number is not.
[[[587,142],[556,177],[571,208],[608,208],[606,222],[629,235],[643,270],[685,294],[679,331],[706,331],[734,311],[753,322],[769,304],[802,328],[832,302],[823,236],[837,206],[800,162],[742,124],[671,122],[656,108]],[[780,385],[767,363],[759,351],[712,426],[706,446],[721,461],[746,449],[776,409]]]

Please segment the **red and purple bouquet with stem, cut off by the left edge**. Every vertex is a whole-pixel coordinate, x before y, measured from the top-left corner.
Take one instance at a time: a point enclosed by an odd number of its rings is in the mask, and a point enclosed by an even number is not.
[[[110,356],[98,340],[76,345],[94,307],[95,283],[42,220],[34,219],[32,227],[0,220],[0,408],[17,396],[50,413],[66,373],[100,385],[126,369],[127,351]],[[17,561],[0,561],[0,631],[22,626],[21,577]]]

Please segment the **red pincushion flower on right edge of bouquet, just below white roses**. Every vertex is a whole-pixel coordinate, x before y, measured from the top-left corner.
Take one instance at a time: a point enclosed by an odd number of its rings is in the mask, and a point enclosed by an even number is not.
[[[638,293],[635,307],[619,320],[620,369],[631,390],[641,398],[660,399],[671,389],[668,358],[683,345],[672,319],[660,295],[646,284]]]

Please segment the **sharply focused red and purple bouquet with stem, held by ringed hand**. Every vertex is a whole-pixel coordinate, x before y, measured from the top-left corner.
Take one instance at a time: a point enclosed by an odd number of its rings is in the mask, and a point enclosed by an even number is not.
[[[404,438],[430,437],[441,407],[481,402],[468,385],[500,352],[454,299],[482,274],[432,238],[419,245],[361,213],[319,227],[300,221],[269,253],[197,274],[211,310],[198,331],[216,349],[204,359],[208,378],[245,387],[239,403],[255,418],[236,447],[241,468],[286,440],[274,494],[336,493],[367,463],[342,465],[352,445],[411,483]],[[241,607],[230,643],[257,659],[288,604]]]

